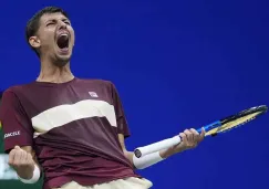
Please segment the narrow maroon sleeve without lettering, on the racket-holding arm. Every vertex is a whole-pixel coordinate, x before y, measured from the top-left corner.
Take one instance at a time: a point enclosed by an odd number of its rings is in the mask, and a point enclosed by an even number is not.
[[[124,137],[130,137],[130,128],[124,114],[123,105],[118,95],[118,92],[114,84],[112,84],[112,96],[113,96],[113,105],[116,114],[116,123],[117,123],[117,133],[123,134]]]

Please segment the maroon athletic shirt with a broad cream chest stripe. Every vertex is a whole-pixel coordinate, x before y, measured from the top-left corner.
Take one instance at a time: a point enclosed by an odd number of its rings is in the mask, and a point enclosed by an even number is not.
[[[130,129],[112,82],[73,78],[8,88],[0,120],[4,150],[32,146],[44,189],[73,180],[83,186],[139,177],[122,151],[118,134]]]

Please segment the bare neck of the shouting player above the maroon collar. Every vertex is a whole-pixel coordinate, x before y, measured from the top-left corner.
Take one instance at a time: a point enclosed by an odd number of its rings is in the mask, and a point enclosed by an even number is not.
[[[63,66],[56,66],[55,64],[41,61],[41,71],[38,82],[50,82],[50,83],[65,83],[74,78],[70,70],[70,63],[66,63]]]

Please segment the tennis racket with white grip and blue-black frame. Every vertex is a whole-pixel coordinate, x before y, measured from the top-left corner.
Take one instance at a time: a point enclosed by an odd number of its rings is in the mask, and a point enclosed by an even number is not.
[[[242,126],[249,123],[250,120],[254,120],[258,116],[265,114],[267,109],[268,107],[266,105],[256,106],[256,107],[241,111],[238,114],[234,114],[231,116],[216,120],[211,124],[204,126],[206,132],[205,136],[216,136],[218,134],[227,133],[234,128],[238,128],[239,126]],[[201,128],[198,128],[196,130],[200,133]],[[182,141],[180,137],[175,136],[173,138],[164,139],[148,146],[138,147],[134,150],[134,154],[137,158],[139,158],[145,155],[159,151],[162,149],[167,149],[169,147],[178,145],[180,141]]]

